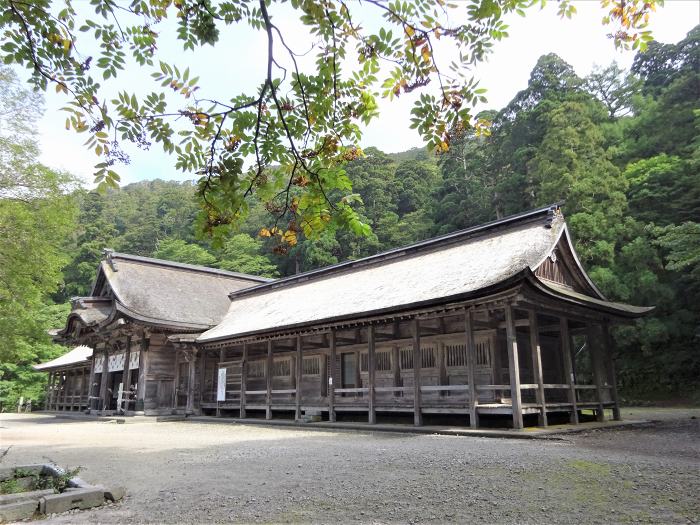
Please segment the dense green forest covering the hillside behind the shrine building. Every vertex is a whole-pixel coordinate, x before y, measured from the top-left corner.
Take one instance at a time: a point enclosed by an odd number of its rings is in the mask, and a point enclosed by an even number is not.
[[[0,152],[0,400],[40,396],[29,365],[60,352],[43,331],[61,325],[70,297],[89,292],[105,247],[275,277],[564,200],[602,291],[656,306],[616,331],[623,395],[697,402],[699,42],[700,26],[677,44],[652,42],[631,71],[612,64],[586,78],[557,55],[540,57],[527,88],[482,115],[490,134],[454,130],[439,156],[367,148],[347,164],[370,234],[327,231],[291,247],[260,235],[271,215],[257,202],[239,232],[212,243],[199,233],[193,182],[75,189],[69,176],[33,164],[36,155],[19,158],[17,144],[36,146],[30,130],[15,130]],[[20,103],[3,74],[2,104]]]

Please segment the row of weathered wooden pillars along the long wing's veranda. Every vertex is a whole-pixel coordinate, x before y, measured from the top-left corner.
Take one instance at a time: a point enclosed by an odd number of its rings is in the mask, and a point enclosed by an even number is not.
[[[522,389],[523,388],[533,388],[535,390],[536,404],[539,407],[538,410],[538,424],[540,426],[547,426],[547,404],[546,404],[546,385],[543,379],[542,371],[542,354],[540,345],[540,329],[537,320],[537,312],[534,309],[527,309],[527,321],[529,325],[529,343],[530,343],[530,353],[532,358],[532,371],[533,371],[533,381],[534,387],[532,385],[523,386],[521,384],[520,378],[520,366],[519,366],[519,349],[517,342],[517,332],[516,332],[516,307],[512,304],[505,305],[504,308],[505,317],[505,328],[506,328],[506,344],[508,353],[508,370],[510,385],[509,389],[511,392],[511,403],[512,403],[512,425],[513,428],[522,429],[524,426],[523,422],[523,403],[522,403]],[[518,310],[523,310],[523,308],[518,308]],[[421,333],[420,333],[420,319],[413,318],[411,320],[412,326],[412,346],[413,346],[413,419],[414,424],[420,426],[423,424],[423,411],[422,411],[422,381],[421,381]],[[579,408],[577,406],[577,385],[574,373],[574,362],[572,356],[571,347],[571,337],[569,333],[569,320],[566,317],[559,317],[559,332],[560,332],[560,349],[562,364],[563,364],[563,374],[565,377],[565,387],[567,391],[567,397],[570,406],[570,417],[572,423],[579,422]],[[592,327],[588,329],[588,340],[592,342],[595,337],[592,335]],[[591,358],[593,362],[593,379],[595,383],[596,395],[597,395],[597,409],[596,416],[599,420],[604,419],[605,407],[604,407],[604,390],[606,388],[611,389],[611,397],[613,403],[613,417],[615,419],[620,418],[618,402],[617,402],[617,391],[615,387],[615,377],[614,377],[614,366],[611,358],[611,346],[610,346],[610,335],[608,332],[607,324],[602,325],[602,349],[600,344],[595,344],[592,347]],[[468,392],[469,392],[469,424],[472,428],[479,426],[479,410],[478,410],[478,387],[476,384],[475,369],[476,369],[476,345],[474,338],[474,313],[472,309],[465,310],[464,314],[464,337],[466,344],[467,353],[467,374],[468,374]],[[328,384],[328,418],[329,421],[334,422],[336,420],[336,407],[335,407],[335,395],[336,395],[336,356],[337,356],[337,344],[336,344],[336,331],[331,329],[328,334],[328,345],[330,354],[330,374],[329,374],[329,384]],[[296,346],[296,359],[295,359],[295,385],[294,385],[294,395],[295,395],[295,419],[300,419],[302,414],[302,388],[301,383],[303,381],[302,374],[302,360],[303,360],[303,341],[302,336],[295,336],[295,346]],[[240,417],[246,417],[246,391],[247,391],[247,361],[248,361],[248,350],[249,343],[243,343],[242,351],[242,361],[241,361],[241,391],[240,391]],[[367,410],[368,410],[368,422],[370,424],[375,424],[377,422],[377,409],[376,409],[376,337],[375,337],[375,324],[367,325],[367,357],[368,357],[368,383],[367,383]],[[220,360],[223,361],[224,352],[221,351]],[[272,365],[273,365],[273,340],[267,341],[267,362],[266,362],[266,418],[272,418]],[[604,379],[607,375],[608,381]],[[609,384],[607,384],[609,382]]]

